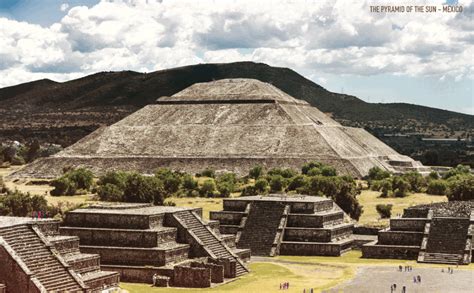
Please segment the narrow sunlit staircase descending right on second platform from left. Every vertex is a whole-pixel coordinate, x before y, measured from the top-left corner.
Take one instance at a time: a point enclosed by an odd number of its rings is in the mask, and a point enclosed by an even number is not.
[[[241,276],[248,272],[240,259],[235,256],[223,240],[219,239],[201,220],[190,210],[180,211],[173,214],[180,222],[186,225],[188,231],[202,243],[203,247],[210,251],[211,257],[231,259],[236,262],[236,276]]]

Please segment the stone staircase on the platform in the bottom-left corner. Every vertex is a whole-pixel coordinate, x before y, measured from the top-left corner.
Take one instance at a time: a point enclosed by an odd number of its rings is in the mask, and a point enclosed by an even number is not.
[[[53,254],[51,248],[31,226],[1,228],[0,236],[48,292],[84,291],[80,281]]]

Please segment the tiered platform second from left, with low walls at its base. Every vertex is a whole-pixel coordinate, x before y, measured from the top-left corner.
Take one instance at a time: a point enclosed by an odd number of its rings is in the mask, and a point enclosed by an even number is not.
[[[201,209],[109,204],[67,213],[62,235],[80,239],[81,251],[99,254],[103,270],[125,282],[160,286],[209,287],[248,272],[250,251],[221,235],[216,221],[204,222]]]

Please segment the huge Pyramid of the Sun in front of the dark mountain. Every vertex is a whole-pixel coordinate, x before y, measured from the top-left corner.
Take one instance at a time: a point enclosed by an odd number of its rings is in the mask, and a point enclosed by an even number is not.
[[[256,165],[299,169],[316,160],[362,177],[371,167],[427,172],[364,129],[344,127],[318,109],[253,79],[194,84],[101,128],[13,177],[56,177],[64,167],[95,173],[205,167],[246,174]]]

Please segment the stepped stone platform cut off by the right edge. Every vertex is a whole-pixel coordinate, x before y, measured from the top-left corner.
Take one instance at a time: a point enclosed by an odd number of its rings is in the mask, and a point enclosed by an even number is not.
[[[469,264],[472,260],[474,203],[448,202],[405,209],[390,219],[378,241],[362,247],[366,258],[416,259],[419,262]]]

